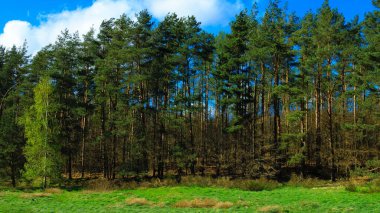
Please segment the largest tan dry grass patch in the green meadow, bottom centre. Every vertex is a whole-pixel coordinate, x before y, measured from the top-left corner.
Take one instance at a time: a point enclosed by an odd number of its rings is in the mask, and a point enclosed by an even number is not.
[[[234,204],[231,202],[221,202],[215,199],[206,198],[194,200],[182,200],[174,204],[176,208],[231,208]]]

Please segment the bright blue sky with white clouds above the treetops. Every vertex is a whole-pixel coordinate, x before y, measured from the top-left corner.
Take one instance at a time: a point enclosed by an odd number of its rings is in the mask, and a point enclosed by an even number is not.
[[[4,1],[0,7],[0,45],[20,45],[27,40],[32,53],[54,42],[64,28],[83,34],[101,20],[118,17],[121,13],[133,16],[147,8],[160,20],[168,12],[194,14],[202,27],[212,33],[228,29],[228,23],[241,9],[250,8],[254,0],[19,0]],[[285,1],[282,1],[285,2]],[[316,11],[323,0],[288,0],[288,11],[303,16]],[[261,14],[268,0],[258,0]],[[347,20],[360,18],[375,8],[371,0],[330,0]]]

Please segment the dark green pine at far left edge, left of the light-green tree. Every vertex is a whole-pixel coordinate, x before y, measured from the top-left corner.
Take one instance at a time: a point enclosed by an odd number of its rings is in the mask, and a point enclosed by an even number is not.
[[[0,173],[10,177],[14,187],[25,162],[22,155],[25,140],[17,120],[29,101],[26,52],[26,45],[7,51],[0,47]]]

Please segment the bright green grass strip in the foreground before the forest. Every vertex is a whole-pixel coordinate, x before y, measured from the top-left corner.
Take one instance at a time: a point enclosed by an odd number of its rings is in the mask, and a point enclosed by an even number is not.
[[[130,205],[145,198],[147,205]],[[175,208],[183,200],[211,198],[232,202],[228,209]],[[244,191],[213,187],[159,187],[135,190],[1,191],[0,212],[380,212],[380,193],[349,192],[344,187],[282,187]]]

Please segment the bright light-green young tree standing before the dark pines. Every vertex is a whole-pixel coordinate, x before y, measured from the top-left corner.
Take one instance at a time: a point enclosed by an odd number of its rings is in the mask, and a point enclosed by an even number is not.
[[[44,188],[47,186],[47,178],[55,181],[61,175],[51,94],[50,79],[42,78],[34,89],[34,104],[20,119],[27,138],[24,148],[27,161],[24,177],[30,181],[42,181]]]

